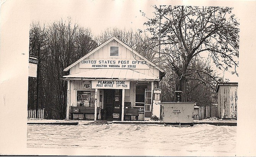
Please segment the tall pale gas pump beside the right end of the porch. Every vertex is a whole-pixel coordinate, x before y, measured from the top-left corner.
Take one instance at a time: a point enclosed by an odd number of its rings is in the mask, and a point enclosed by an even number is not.
[[[161,89],[154,89],[153,92],[153,111],[152,111],[152,118],[160,119],[160,109],[161,109],[161,96],[162,96]]]

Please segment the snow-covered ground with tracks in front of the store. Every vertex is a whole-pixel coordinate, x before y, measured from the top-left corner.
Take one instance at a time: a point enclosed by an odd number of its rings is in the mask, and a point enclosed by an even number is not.
[[[93,124],[28,125],[27,147],[74,148],[92,155],[236,154],[237,126]],[[75,151],[74,151],[75,152]],[[119,152],[119,154],[115,154]]]

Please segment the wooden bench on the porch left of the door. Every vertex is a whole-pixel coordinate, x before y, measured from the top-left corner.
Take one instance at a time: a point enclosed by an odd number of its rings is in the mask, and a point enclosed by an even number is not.
[[[86,117],[85,114],[94,114],[94,110],[95,108],[94,107],[84,107],[84,106],[78,106],[78,107],[75,107],[75,106],[71,106],[70,107],[70,114],[71,114],[71,117],[70,119],[73,120],[74,118],[74,114],[83,114],[84,115],[84,119]],[[99,114],[100,112],[100,108],[97,107],[97,115]]]

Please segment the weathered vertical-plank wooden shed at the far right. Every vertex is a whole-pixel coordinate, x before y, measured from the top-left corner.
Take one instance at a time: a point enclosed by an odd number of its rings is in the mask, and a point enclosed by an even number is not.
[[[237,88],[238,83],[218,83],[217,116],[222,119],[237,118]]]

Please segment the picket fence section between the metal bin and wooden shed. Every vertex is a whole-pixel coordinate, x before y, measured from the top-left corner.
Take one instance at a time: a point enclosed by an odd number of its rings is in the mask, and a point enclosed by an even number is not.
[[[198,115],[194,115],[194,120],[217,117],[217,104],[203,105],[198,108]]]

